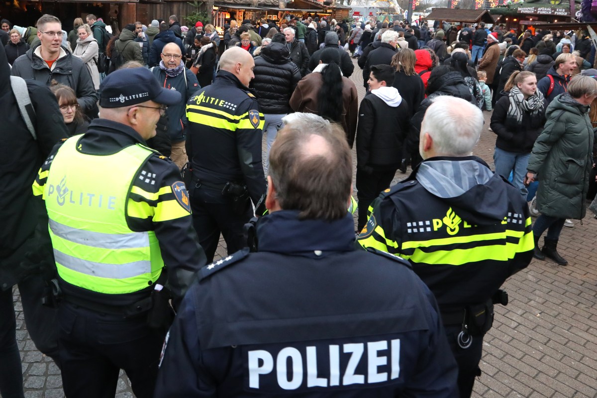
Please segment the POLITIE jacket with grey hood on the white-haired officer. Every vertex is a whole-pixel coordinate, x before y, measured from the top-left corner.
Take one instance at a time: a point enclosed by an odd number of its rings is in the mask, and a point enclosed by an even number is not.
[[[486,303],[533,258],[527,203],[475,156],[426,159],[372,206],[358,243],[408,260],[444,325],[454,324],[445,314]]]

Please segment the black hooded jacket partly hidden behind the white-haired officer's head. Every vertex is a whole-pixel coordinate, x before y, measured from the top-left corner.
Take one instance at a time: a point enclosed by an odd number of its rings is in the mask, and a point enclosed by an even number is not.
[[[425,51],[425,50],[422,50]],[[427,51],[425,51],[427,53]],[[419,134],[421,131],[421,123],[427,108],[433,103],[433,100],[439,95],[450,95],[451,97],[462,98],[469,101],[474,106],[477,106],[475,97],[470,94],[469,86],[464,81],[460,72],[448,72],[445,75],[439,76],[435,81],[429,82],[427,85],[427,98],[425,98],[418,107],[417,113],[414,114],[411,120],[410,134],[407,139],[407,150],[413,156],[413,168],[422,160],[418,153]]]

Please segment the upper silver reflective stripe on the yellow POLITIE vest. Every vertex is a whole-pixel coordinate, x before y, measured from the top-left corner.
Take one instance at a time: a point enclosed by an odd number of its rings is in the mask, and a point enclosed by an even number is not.
[[[149,246],[149,235],[146,232],[103,233],[91,232],[65,226],[50,220],[50,229],[54,235],[79,245],[101,249],[137,249]]]

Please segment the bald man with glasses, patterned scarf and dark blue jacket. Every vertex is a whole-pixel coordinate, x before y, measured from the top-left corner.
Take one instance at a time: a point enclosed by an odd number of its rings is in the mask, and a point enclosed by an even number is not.
[[[186,155],[184,144],[186,143],[186,103],[199,90],[199,82],[193,72],[184,66],[180,47],[176,43],[168,43],[162,48],[160,54],[162,60],[158,66],[152,67],[153,76],[158,79],[159,84],[168,90],[176,90],[182,95],[179,103],[168,107],[166,115],[168,122],[165,124],[170,141],[172,152],[170,159],[182,168],[189,161]],[[162,125],[162,124],[161,124]]]

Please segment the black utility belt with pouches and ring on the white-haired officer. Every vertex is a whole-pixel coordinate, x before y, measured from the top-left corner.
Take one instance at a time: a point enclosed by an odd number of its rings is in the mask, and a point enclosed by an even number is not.
[[[472,337],[483,336],[493,326],[494,304],[507,306],[508,294],[498,289],[496,294],[485,303],[474,304],[454,310],[442,310],[442,322],[444,326],[461,325],[457,343],[461,348],[469,348],[472,344]]]

